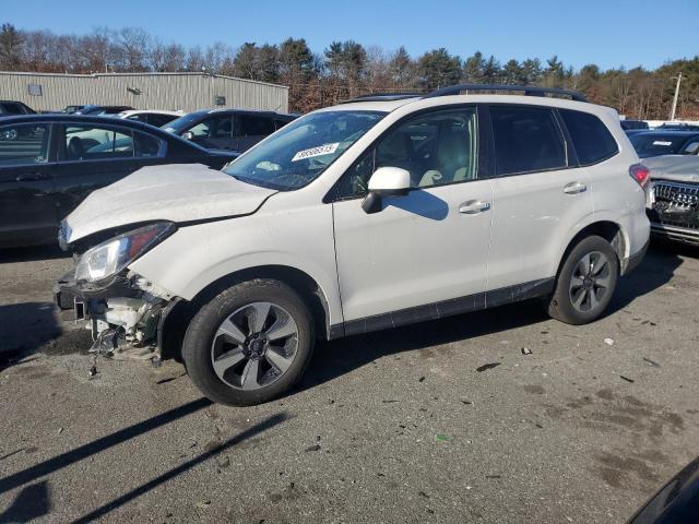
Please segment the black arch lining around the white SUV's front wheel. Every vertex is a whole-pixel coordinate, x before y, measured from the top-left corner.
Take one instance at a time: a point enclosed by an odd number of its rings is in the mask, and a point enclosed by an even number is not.
[[[224,275],[201,289],[191,300],[180,300],[162,321],[161,357],[180,359],[189,322],[197,311],[222,290],[254,278],[280,281],[296,291],[307,305],[319,336],[330,338],[330,309],[321,286],[308,273],[288,265],[259,265]]]

